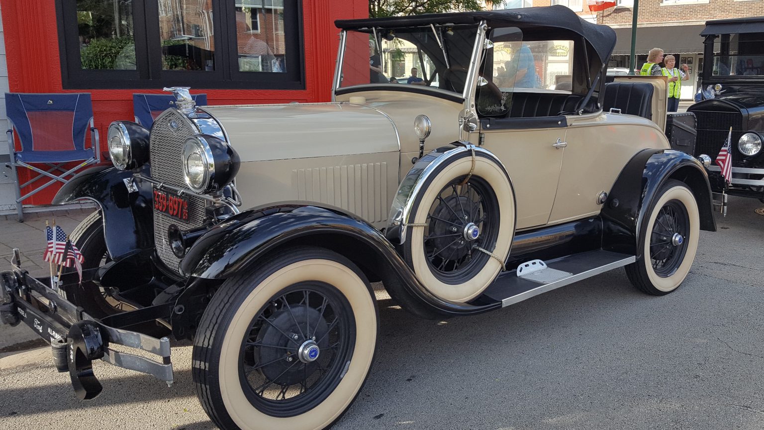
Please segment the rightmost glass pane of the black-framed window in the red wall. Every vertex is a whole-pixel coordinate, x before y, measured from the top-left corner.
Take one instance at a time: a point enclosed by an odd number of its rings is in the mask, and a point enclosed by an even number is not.
[[[241,72],[286,72],[283,0],[236,0]]]

